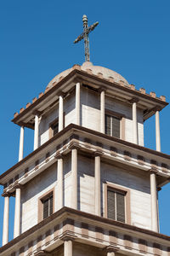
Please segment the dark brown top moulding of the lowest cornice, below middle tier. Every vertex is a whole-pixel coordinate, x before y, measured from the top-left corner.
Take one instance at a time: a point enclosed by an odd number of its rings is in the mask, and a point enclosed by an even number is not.
[[[50,223],[52,223],[56,218],[59,219],[67,219],[67,218],[77,218],[82,222],[86,222],[88,224],[88,220],[90,221],[90,223],[95,223],[95,225],[97,226],[99,224],[99,226],[102,225],[103,228],[108,226],[110,228],[114,228],[115,230],[122,230],[122,232],[124,234],[131,234],[131,236],[143,236],[145,237],[145,239],[150,241],[158,241],[160,243],[162,243],[162,241],[164,242],[168,242],[170,241],[170,236],[166,236],[160,233],[156,233],[154,231],[151,230],[145,230],[130,224],[124,224],[121,222],[117,222],[115,220],[109,219],[109,218],[103,218],[103,217],[99,217],[97,215],[88,213],[88,212],[81,212],[78,210],[75,210],[73,208],[69,208],[69,207],[63,207],[61,208],[58,212],[54,212],[54,214],[50,215],[48,218],[45,218],[44,220],[42,220],[42,222],[36,224],[35,226],[33,226],[30,230],[26,230],[26,232],[22,233],[20,236],[17,236],[16,238],[14,238],[12,241],[9,241],[6,245],[4,245],[3,247],[0,247],[0,253],[5,252],[6,250],[8,250],[10,247],[13,247],[15,244],[19,243],[20,241],[23,241],[24,239],[27,239],[27,237],[32,236],[35,232],[37,232],[39,230],[39,232],[41,232],[41,229],[45,228],[45,226],[49,226]],[[74,234],[73,234],[74,235]],[[77,238],[77,236],[72,236],[72,234],[70,232],[66,232],[65,236],[60,236],[60,239],[64,240],[64,239],[75,239]],[[112,247],[112,249],[114,249],[115,247]],[[108,249],[110,249],[108,247]],[[117,247],[116,247],[117,249]]]

